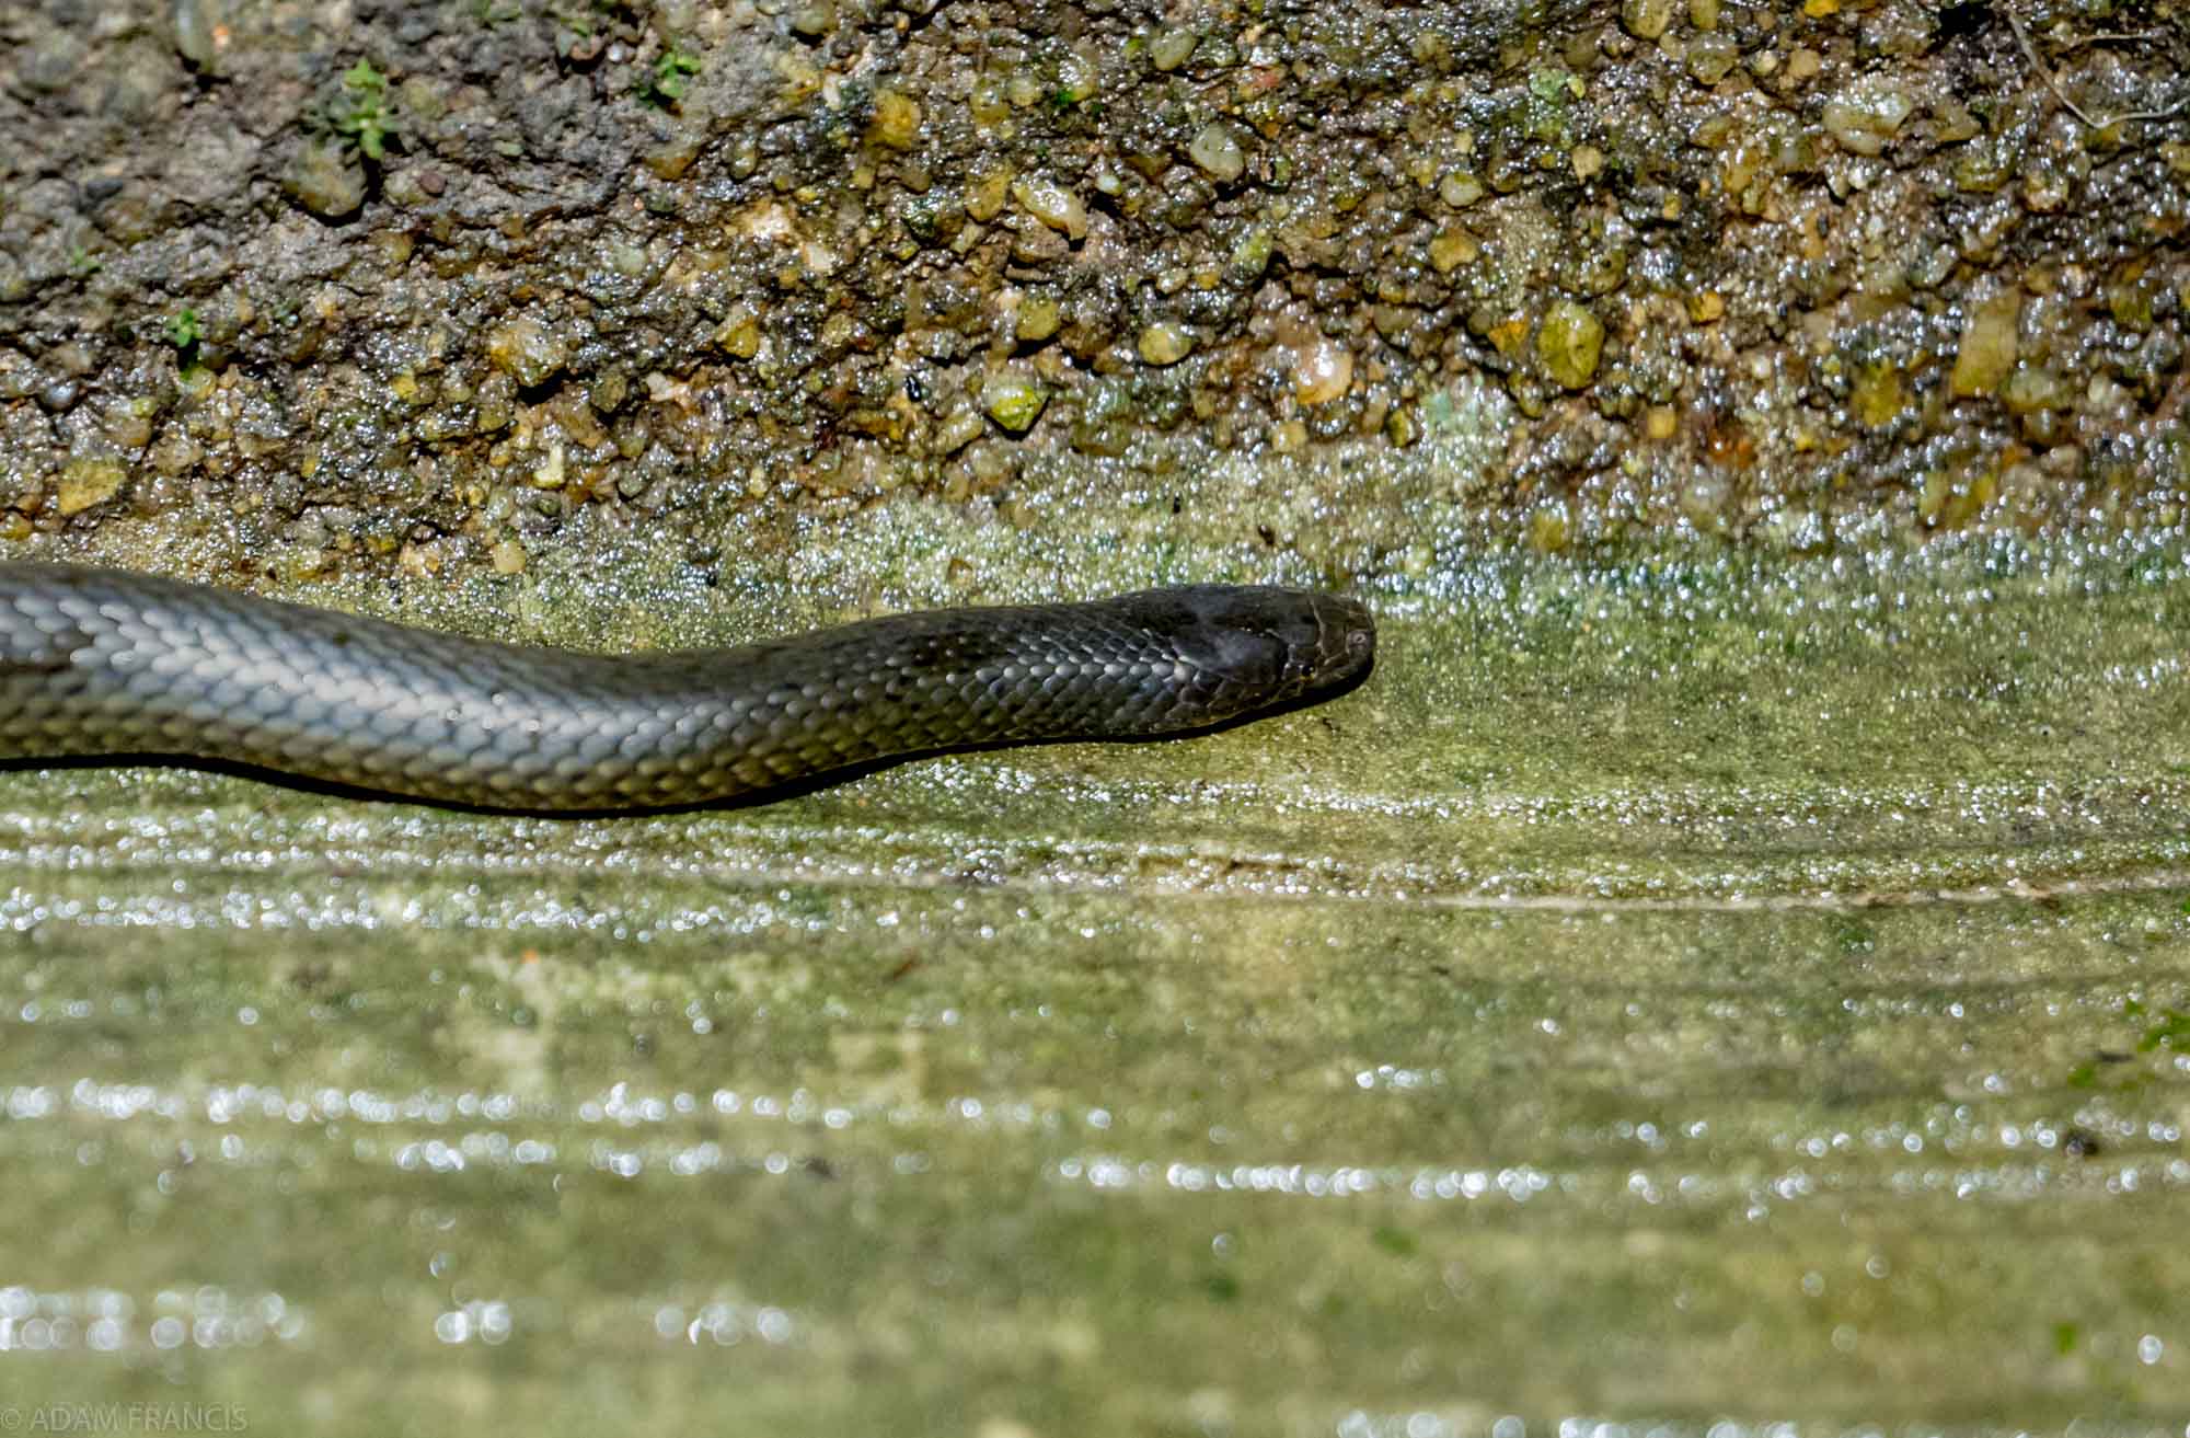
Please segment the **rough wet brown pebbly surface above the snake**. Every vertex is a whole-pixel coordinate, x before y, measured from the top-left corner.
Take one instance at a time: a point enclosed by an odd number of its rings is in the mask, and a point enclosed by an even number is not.
[[[1413,500],[1338,574],[1426,528],[2179,517],[2166,7],[42,0],[0,39],[0,539],[188,506],[208,563],[434,570],[583,509],[1272,454]],[[1456,408],[1500,441],[1465,473],[1417,449]],[[129,480],[64,502],[83,463]]]

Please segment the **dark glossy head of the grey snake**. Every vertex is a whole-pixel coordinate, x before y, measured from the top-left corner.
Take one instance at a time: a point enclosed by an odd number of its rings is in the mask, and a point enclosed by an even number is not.
[[[1196,671],[1200,723],[1327,697],[1375,664],[1375,620],[1353,598],[1259,585],[1200,585],[1165,596],[1183,609],[1172,638]]]

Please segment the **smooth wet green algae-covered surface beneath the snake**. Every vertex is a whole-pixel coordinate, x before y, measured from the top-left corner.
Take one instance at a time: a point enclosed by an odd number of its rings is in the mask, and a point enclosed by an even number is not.
[[[1373,601],[766,809],[0,774],[0,1418],[2179,1431],[2181,541]]]

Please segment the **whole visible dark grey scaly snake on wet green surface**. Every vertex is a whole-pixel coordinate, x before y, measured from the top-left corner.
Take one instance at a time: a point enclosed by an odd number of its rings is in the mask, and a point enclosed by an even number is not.
[[[602,655],[0,561],[0,763],[177,763],[530,813],[758,802],[889,761],[1154,739],[1358,684],[1347,596],[1185,585]]]

